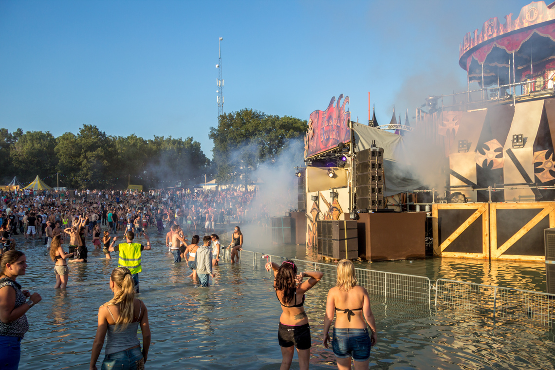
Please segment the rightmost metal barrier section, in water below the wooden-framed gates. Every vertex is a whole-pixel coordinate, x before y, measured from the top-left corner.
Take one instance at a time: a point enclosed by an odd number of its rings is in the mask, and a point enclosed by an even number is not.
[[[515,288],[438,279],[436,309],[491,317],[499,321],[553,326],[555,295]]]

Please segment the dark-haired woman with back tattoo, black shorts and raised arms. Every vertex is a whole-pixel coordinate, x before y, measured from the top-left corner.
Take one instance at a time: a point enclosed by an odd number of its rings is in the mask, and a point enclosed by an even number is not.
[[[295,348],[299,356],[300,370],[309,368],[310,326],[304,309],[305,292],[316,285],[324,276],[322,272],[303,271],[297,275],[293,261],[284,261],[281,266],[274,262],[266,263],[266,271],[274,271],[274,289],[281,303],[278,341],[281,347],[280,370],[291,367]],[[302,281],[304,277],[308,280]]]

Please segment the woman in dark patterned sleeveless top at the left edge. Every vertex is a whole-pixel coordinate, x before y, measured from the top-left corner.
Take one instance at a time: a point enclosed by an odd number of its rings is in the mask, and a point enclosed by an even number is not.
[[[21,339],[29,330],[25,313],[42,299],[38,293],[21,290],[16,282],[19,275],[25,275],[26,261],[25,254],[16,250],[7,251],[0,259],[0,368],[6,370],[19,367]]]

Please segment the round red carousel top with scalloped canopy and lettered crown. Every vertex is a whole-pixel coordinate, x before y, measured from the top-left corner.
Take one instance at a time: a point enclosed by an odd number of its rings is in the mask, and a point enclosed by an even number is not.
[[[532,2],[516,19],[513,14],[505,18],[504,24],[497,17],[490,18],[481,33],[476,29],[473,36],[469,32],[463,39],[459,64],[470,82],[505,85],[555,70],[554,4]]]

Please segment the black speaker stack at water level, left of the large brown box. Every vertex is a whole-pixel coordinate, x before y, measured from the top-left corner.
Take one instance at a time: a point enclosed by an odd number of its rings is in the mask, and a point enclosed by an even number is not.
[[[357,223],[352,220],[317,221],[317,251],[336,260],[359,258]]]

